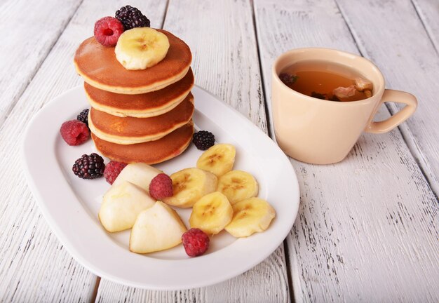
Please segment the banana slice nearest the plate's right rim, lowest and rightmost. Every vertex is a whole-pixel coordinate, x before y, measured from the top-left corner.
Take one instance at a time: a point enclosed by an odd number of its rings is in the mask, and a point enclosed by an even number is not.
[[[249,198],[235,203],[232,207],[234,217],[225,229],[236,238],[266,230],[271,220],[276,217],[274,208],[261,198]]]

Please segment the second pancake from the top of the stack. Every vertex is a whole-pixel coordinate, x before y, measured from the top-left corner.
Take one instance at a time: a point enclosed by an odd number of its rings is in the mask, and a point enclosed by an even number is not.
[[[91,107],[113,116],[147,118],[169,112],[179,105],[194,86],[192,70],[181,79],[161,90],[140,95],[123,95],[100,90],[84,82]]]

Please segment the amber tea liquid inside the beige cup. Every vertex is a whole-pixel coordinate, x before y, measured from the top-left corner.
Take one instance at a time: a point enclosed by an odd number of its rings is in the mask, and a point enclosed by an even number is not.
[[[286,75],[290,78],[284,81]],[[368,97],[365,92],[359,90],[355,90],[355,94],[349,97],[334,95],[333,91],[336,88],[353,86],[354,79],[358,77],[365,79],[354,69],[336,63],[326,61],[298,62],[285,67],[279,76],[283,83],[292,90],[310,97],[343,102],[363,100]]]

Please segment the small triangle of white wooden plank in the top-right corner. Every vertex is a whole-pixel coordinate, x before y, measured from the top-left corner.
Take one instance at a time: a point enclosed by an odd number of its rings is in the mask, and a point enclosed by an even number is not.
[[[436,52],[439,52],[439,1],[412,0],[412,3],[435,46]]]

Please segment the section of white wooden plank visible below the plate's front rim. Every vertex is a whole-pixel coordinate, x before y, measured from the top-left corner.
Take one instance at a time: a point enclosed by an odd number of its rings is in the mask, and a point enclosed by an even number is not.
[[[142,290],[102,279],[96,302],[290,302],[285,271],[285,256],[283,250],[278,248],[269,258],[241,276],[206,288]]]

